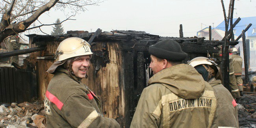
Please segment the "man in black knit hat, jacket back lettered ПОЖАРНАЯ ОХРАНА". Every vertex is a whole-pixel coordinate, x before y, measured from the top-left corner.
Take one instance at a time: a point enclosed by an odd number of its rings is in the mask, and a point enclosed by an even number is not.
[[[149,46],[153,71],[143,89],[131,128],[217,127],[216,98],[211,85],[192,66],[187,54],[166,39]]]

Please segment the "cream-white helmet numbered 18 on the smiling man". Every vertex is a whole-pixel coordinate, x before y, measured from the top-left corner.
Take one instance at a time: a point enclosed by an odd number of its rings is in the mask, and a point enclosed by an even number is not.
[[[55,58],[62,61],[76,56],[91,55],[91,45],[78,37],[70,37],[63,40],[55,53]]]

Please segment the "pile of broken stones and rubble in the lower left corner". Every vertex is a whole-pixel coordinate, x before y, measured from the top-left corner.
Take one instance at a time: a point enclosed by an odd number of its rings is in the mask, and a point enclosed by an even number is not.
[[[46,128],[45,123],[44,104],[41,101],[0,106],[0,128]]]

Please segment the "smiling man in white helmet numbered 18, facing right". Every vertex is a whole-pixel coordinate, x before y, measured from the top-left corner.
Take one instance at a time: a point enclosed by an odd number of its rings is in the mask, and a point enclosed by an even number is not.
[[[89,43],[77,37],[63,40],[56,62],[47,70],[54,74],[45,93],[46,122],[49,128],[120,128],[115,119],[103,117],[98,97],[81,80],[90,66]]]

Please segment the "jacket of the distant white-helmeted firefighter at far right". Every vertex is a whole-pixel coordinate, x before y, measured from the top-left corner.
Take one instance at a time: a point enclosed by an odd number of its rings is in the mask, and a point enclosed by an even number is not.
[[[232,55],[232,57],[233,57],[233,63],[234,63],[235,76],[241,76],[243,58],[241,58],[241,56],[239,55]]]

